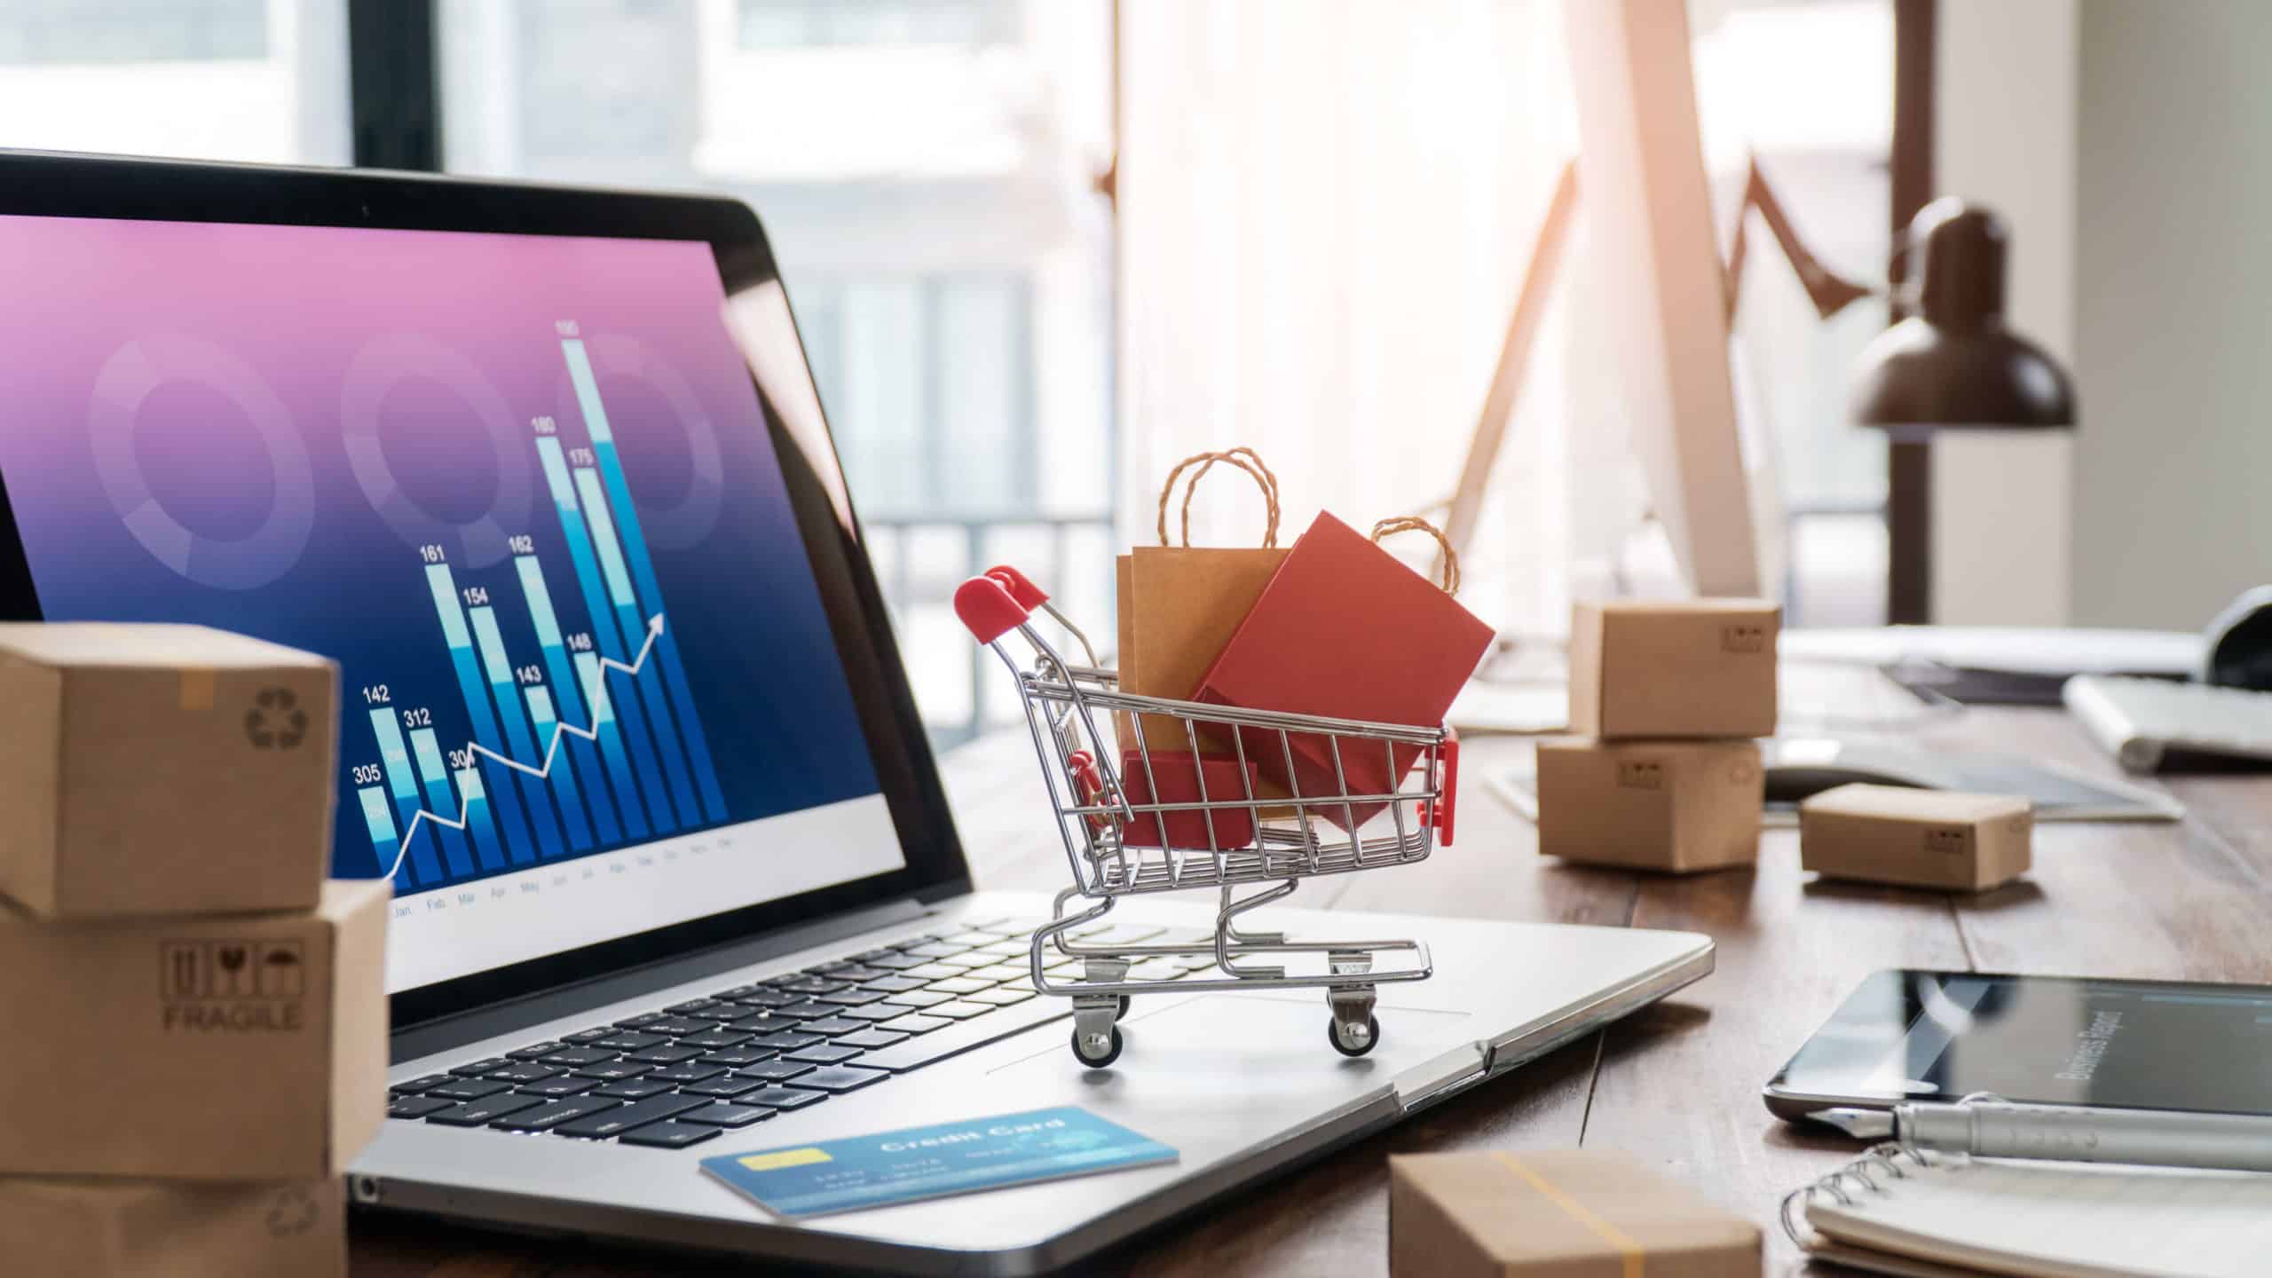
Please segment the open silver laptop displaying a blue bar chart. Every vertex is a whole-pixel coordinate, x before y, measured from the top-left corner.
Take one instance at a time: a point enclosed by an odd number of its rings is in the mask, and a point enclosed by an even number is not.
[[[7,614],[341,662],[334,873],[395,882],[364,1210],[1031,1273],[1711,971],[1686,932],[1263,910],[1434,978],[1381,987],[1361,1057],[1318,991],[1170,985],[1086,1069],[1031,982],[1052,896],[970,882],[741,202],[7,152],[0,277]],[[1047,1105],[1177,1160],[811,1219],[698,1167]]]

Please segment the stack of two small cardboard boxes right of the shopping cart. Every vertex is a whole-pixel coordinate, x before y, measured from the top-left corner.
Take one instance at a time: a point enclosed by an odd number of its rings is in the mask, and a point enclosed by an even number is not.
[[[1759,860],[1779,630],[1752,598],[1579,603],[1577,735],[1538,744],[1538,850],[1672,873]]]

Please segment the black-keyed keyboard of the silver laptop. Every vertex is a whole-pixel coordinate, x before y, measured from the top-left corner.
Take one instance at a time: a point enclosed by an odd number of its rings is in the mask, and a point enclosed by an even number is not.
[[[1000,919],[909,937],[804,971],[534,1042],[395,1082],[391,1119],[684,1148],[820,1105],[1052,1016],[1027,953],[1038,921]],[[1095,923],[1091,944],[1161,944],[1163,928]],[[1213,966],[1154,957],[1136,980]],[[1079,980],[1079,960],[1047,966]]]

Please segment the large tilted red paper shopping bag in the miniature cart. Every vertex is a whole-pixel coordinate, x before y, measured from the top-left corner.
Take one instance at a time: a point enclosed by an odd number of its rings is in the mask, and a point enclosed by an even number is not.
[[[1490,628],[1440,587],[1347,523],[1320,514],[1193,700],[1434,728],[1490,650]],[[1420,746],[1343,739],[1336,775],[1331,737],[1288,732],[1288,750],[1279,750],[1272,728],[1241,728],[1238,735],[1263,778],[1302,798],[1390,794],[1422,753]],[[1290,775],[1286,753],[1293,755]],[[1352,816],[1363,825],[1384,807],[1322,803],[1309,810],[1336,825],[1352,825]]]

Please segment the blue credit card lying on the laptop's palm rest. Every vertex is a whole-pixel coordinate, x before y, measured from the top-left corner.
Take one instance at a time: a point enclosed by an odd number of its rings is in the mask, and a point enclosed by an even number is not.
[[[702,1171],[784,1217],[888,1208],[1175,1162],[1079,1105],[704,1157]]]

